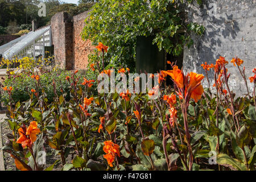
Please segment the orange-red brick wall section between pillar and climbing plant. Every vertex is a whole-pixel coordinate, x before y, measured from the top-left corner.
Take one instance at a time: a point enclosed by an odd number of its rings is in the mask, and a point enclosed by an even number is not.
[[[95,48],[89,40],[82,40],[81,32],[85,26],[84,20],[89,11],[73,16],[73,60],[74,69],[86,69],[88,55]]]

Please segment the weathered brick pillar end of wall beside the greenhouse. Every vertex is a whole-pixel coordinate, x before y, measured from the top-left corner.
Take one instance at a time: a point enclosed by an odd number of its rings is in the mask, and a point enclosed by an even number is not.
[[[51,19],[54,55],[61,68],[73,69],[73,22],[68,13],[61,12]]]

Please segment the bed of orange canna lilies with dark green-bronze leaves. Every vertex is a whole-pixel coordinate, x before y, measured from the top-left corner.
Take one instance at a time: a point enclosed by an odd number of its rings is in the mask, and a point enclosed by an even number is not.
[[[111,77],[113,71],[104,69],[108,47],[97,48],[103,54],[103,68],[100,61],[90,68],[95,75]],[[240,68],[243,61],[236,57],[232,63],[247,86],[245,68]],[[20,170],[53,169],[57,161],[46,167],[46,146],[59,155],[63,170],[254,170],[256,69],[250,77],[253,94],[235,98],[224,57],[215,65],[202,65],[205,76],[168,64],[172,70],[161,71],[155,77],[159,86],[148,93],[95,94],[93,86],[100,82],[88,77],[80,81],[77,71],[61,81],[69,85],[69,100],[57,93],[52,80],[54,97],[49,101],[39,75],[31,75],[35,87],[28,90],[27,101],[14,102],[15,88],[6,86],[6,122],[13,133],[2,150],[11,154]],[[203,79],[209,81],[209,69],[214,69],[215,93],[201,85]],[[167,76],[173,88],[166,86]],[[159,97],[152,99],[158,89]],[[70,155],[72,162],[67,161]]]

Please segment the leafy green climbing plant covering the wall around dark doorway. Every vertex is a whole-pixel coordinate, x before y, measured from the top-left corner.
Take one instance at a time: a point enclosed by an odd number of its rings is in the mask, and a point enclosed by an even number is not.
[[[178,56],[184,46],[193,44],[189,36],[192,31],[199,35],[204,32],[203,26],[185,21],[186,3],[180,0],[100,0],[85,20],[82,38],[109,46],[105,57],[108,67],[135,67],[137,36],[154,36],[152,44],[159,50]],[[92,62],[98,59],[97,53],[89,59]]]

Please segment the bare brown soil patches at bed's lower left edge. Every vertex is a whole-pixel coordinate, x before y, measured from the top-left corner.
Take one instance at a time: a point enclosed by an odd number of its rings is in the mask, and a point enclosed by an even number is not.
[[[2,114],[3,115],[3,114]],[[2,142],[3,146],[5,145],[5,142],[7,140],[6,135],[8,133],[11,133],[12,131],[9,129],[9,125],[7,122],[3,121],[3,119],[0,118],[1,123],[1,130],[2,130]],[[1,136],[0,136],[1,137]],[[61,163],[60,155],[55,155],[55,150],[50,148],[48,145],[46,146],[46,167],[51,166],[53,163],[55,163],[56,160],[59,160],[59,163],[56,163],[52,171],[61,171],[63,168],[63,165]],[[10,154],[8,152],[3,151],[3,160],[5,163],[5,170],[6,171],[15,171],[16,166],[14,164],[14,159],[11,158]],[[66,163],[72,163],[72,151],[69,154],[68,158],[66,159]]]

